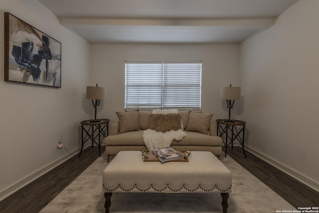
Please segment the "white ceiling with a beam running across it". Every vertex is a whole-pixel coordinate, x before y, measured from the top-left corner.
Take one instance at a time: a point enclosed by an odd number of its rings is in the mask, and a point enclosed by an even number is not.
[[[240,43],[298,0],[39,0],[90,43]]]

